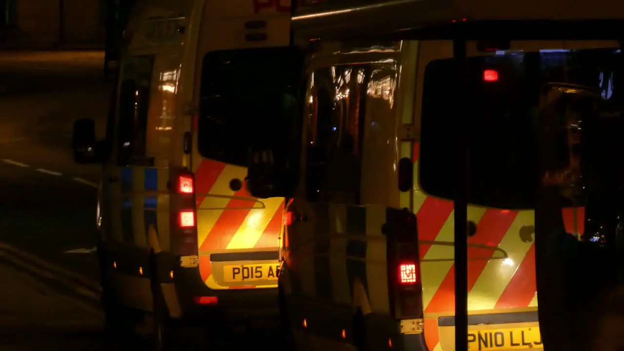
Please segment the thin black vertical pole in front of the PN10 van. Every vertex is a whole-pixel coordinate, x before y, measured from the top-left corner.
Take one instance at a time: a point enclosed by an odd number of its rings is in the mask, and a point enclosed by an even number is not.
[[[453,41],[453,56],[456,62],[455,107],[455,147],[456,147],[456,184],[455,184],[455,350],[468,351],[468,150],[467,127],[464,110],[466,108],[466,39],[462,25],[456,25]]]

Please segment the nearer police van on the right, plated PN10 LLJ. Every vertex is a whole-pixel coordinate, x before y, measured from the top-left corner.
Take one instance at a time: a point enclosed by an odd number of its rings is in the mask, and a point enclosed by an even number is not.
[[[250,184],[279,179],[285,192],[265,195],[292,197],[278,284],[293,349],[301,339],[319,349],[453,351],[456,340],[469,350],[544,347],[540,329],[560,323],[539,324],[556,318],[538,310],[547,292],[537,295],[532,123],[547,82],[611,96],[620,44],[592,28],[622,14],[615,7],[407,0],[298,9],[295,37],[311,51],[300,162],[271,164],[277,171],[265,179],[250,164]],[[461,73],[454,54],[465,60]],[[461,109],[457,74],[468,87]],[[470,147],[459,222],[469,316],[456,339],[459,118]],[[582,237],[583,204],[559,214],[565,231]]]

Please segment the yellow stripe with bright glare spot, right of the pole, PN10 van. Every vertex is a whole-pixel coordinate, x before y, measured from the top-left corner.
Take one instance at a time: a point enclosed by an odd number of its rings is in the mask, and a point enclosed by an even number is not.
[[[470,310],[494,309],[496,302],[505,291],[505,287],[514,277],[522,260],[531,248],[532,242],[522,242],[520,228],[534,224],[533,211],[520,211],[500,241],[499,248],[507,252],[507,259],[492,259],[479,275],[474,287],[470,290],[468,304]],[[477,234],[478,235],[478,234]],[[494,252],[497,257],[500,252]]]

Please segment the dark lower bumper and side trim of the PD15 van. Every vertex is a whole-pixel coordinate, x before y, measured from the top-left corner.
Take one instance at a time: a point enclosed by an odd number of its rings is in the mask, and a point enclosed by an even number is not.
[[[160,282],[172,317],[204,324],[224,320],[273,320],[279,315],[277,289],[212,290],[203,282],[199,267],[183,268],[168,252],[156,255],[135,247],[107,247],[99,252],[103,275],[124,305],[151,310],[150,279]],[[198,304],[197,297],[216,297],[216,304]],[[210,317],[210,318],[208,318]]]

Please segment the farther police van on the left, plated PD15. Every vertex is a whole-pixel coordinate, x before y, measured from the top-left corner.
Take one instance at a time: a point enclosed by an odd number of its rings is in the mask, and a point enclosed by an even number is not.
[[[82,162],[102,162],[97,230],[107,327],[276,314],[283,197],[245,177],[271,119],[295,108],[303,59],[290,6],[260,0],[137,1],[124,29],[104,141],[76,122]],[[296,73],[296,74],[293,74]],[[77,148],[80,145],[76,146]],[[82,150],[82,151],[81,151]],[[89,151],[87,153],[87,151]]]

